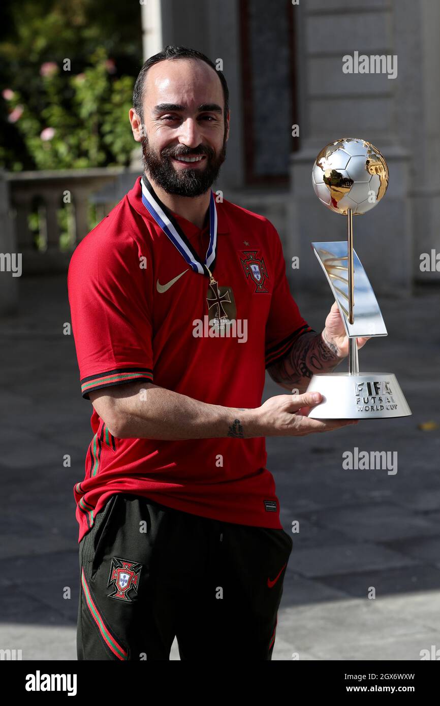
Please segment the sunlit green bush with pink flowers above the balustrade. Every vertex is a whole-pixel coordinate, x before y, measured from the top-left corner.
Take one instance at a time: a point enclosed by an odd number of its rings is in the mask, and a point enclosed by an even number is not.
[[[112,80],[108,67],[102,47],[95,50],[90,66],[81,74],[70,76],[56,64],[46,66],[40,115],[14,92],[11,108],[23,109],[16,127],[37,169],[129,164],[133,137],[128,114],[134,78]]]

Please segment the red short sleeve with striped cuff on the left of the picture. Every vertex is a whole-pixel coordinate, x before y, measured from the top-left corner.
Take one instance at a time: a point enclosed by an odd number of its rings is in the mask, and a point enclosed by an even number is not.
[[[93,232],[74,251],[67,286],[81,394],[153,382],[152,321],[138,245]]]

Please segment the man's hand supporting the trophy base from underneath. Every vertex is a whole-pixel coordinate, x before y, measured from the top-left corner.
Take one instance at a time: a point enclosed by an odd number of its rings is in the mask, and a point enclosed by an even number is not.
[[[306,436],[357,424],[357,419],[310,419],[307,415],[311,407],[318,405],[321,400],[321,393],[270,397],[254,410],[261,436]]]

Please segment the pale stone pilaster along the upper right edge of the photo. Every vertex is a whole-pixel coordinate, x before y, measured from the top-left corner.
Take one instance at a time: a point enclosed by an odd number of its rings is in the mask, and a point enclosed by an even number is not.
[[[420,271],[421,253],[440,253],[440,3],[402,0],[398,9],[402,80],[396,115],[399,135],[411,155],[412,273],[416,282],[440,283],[440,271]]]

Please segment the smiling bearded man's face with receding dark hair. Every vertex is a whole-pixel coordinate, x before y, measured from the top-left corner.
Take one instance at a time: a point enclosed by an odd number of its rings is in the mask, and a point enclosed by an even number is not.
[[[229,115],[225,126],[220,78],[204,61],[160,61],[145,77],[143,131],[140,140],[145,172],[168,193],[206,193],[225,161]]]

